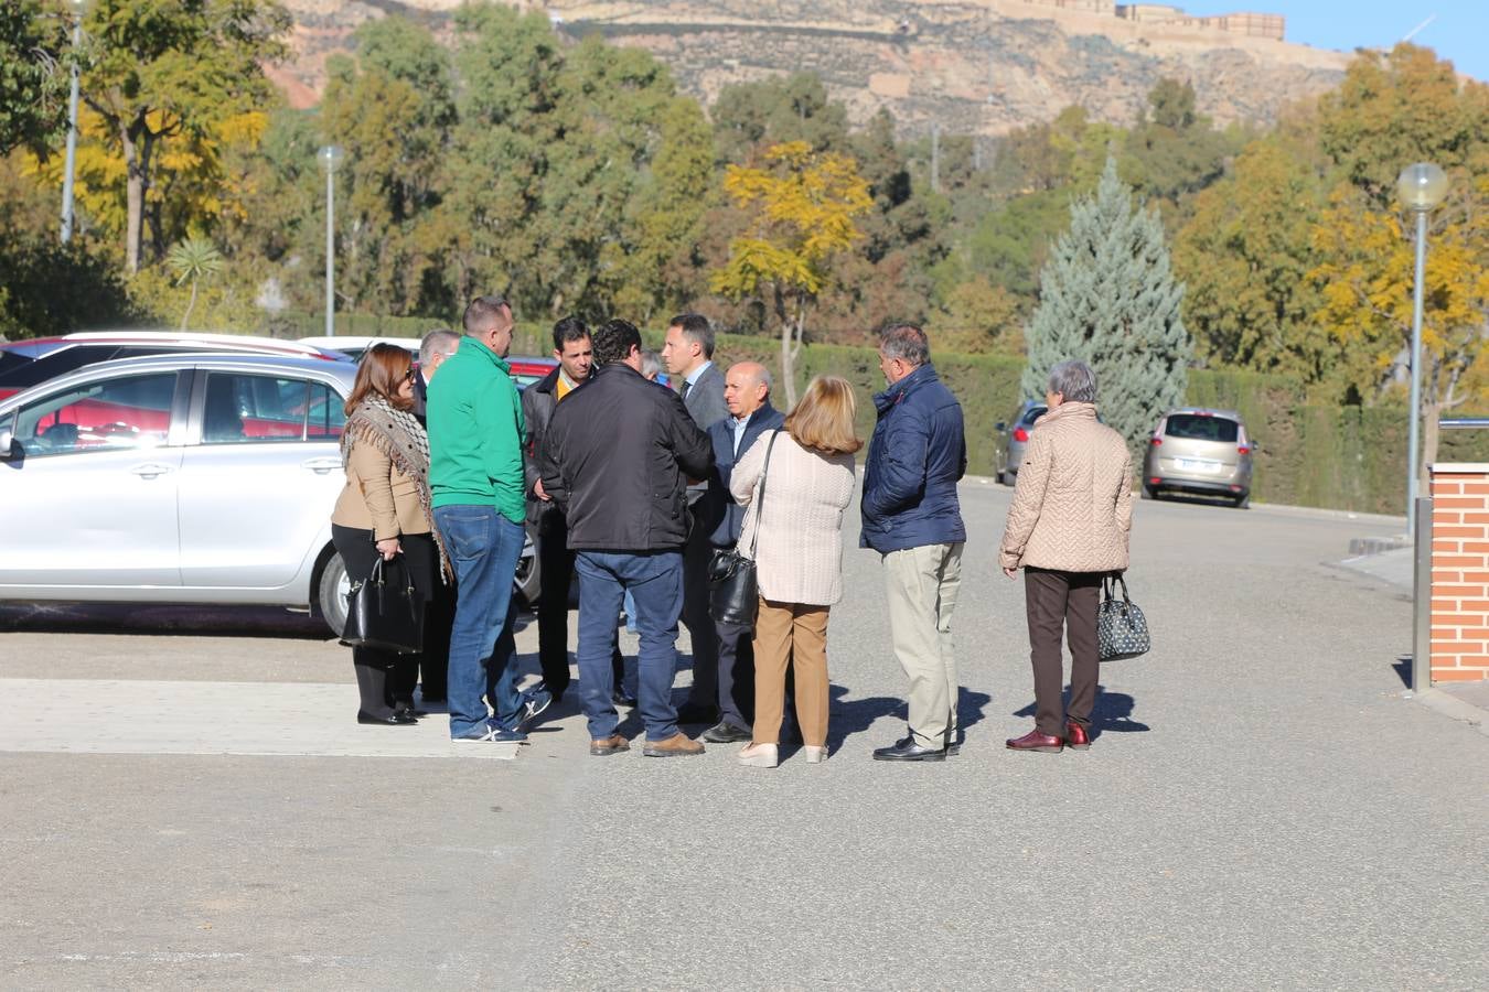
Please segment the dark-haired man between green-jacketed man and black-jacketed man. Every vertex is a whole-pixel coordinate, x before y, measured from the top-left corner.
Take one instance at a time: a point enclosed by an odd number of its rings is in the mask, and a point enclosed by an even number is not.
[[[523,471],[527,477],[527,525],[538,531],[538,659],[543,669],[543,687],[558,702],[569,689],[569,577],[575,555],[569,550],[569,524],[563,507],[543,491],[539,464],[554,409],[594,376],[594,344],[590,329],[578,317],[564,317],[554,324],[554,358],[558,367],[523,391],[523,419],[527,422]],[[621,690],[625,666],[618,644],[610,665],[615,703],[636,705]]]

